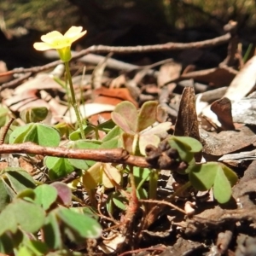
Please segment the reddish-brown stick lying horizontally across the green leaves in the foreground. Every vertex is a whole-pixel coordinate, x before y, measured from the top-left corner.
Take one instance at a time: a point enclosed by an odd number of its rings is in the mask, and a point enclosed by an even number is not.
[[[2,144],[0,154],[42,154],[61,158],[95,160],[105,163],[119,163],[131,166],[153,167],[142,156],[130,155],[124,148],[113,149],[71,149],[42,147],[34,143]]]

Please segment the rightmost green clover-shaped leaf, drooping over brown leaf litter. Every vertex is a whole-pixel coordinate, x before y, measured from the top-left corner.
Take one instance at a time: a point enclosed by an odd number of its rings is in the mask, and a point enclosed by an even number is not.
[[[195,165],[189,172],[189,181],[195,189],[205,191],[213,187],[219,203],[226,203],[232,195],[231,187],[237,182],[236,172],[217,162]]]

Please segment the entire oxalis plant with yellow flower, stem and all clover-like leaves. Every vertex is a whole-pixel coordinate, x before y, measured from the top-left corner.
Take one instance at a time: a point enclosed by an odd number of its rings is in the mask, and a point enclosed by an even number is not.
[[[43,43],[34,44],[39,50],[57,49],[59,52],[67,69],[74,108],[77,102],[68,69],[70,46],[84,34],[82,27],[73,26],[64,35],[50,32],[42,37]],[[57,147],[61,137],[66,136],[68,143],[62,147],[125,148],[131,155],[145,157],[151,167],[138,167],[136,162],[127,166],[46,156],[44,165],[48,169],[49,184],[35,181],[21,168],[3,169],[0,172],[1,253],[80,255],[68,250],[67,241],[83,243],[102,233],[97,219],[102,212],[97,208],[96,189],[97,193],[108,195],[105,207],[110,217],[117,209],[124,212],[123,228],[120,229],[125,234],[143,201],[157,199],[160,170],[172,170],[189,177],[172,198],[192,186],[200,191],[212,189],[219,203],[230,200],[231,187],[237,182],[236,173],[218,162],[196,163],[194,155],[201,151],[201,143],[191,137],[168,135],[172,124],[165,122],[166,113],[157,102],[145,102],[139,111],[131,102],[121,102],[111,114],[112,120],[100,125],[83,125],[78,108],[75,113],[79,122],[77,131],[65,124],[45,125],[42,121],[47,118],[48,109],[28,108],[20,113],[26,125],[12,125],[13,131],[9,131],[5,142]],[[8,116],[4,114],[0,119],[2,126],[6,119]],[[99,131],[104,131],[106,136],[99,139]],[[89,134],[90,139],[87,138]],[[55,181],[71,172],[77,175],[72,183]],[[78,186],[89,195],[90,207],[73,195],[72,189]],[[82,207],[73,207],[73,201],[79,201]]]

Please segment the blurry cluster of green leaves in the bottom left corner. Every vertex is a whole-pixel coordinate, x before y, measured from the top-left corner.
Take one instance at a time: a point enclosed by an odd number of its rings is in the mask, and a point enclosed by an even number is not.
[[[70,207],[71,201],[72,192],[65,183],[23,189],[0,213],[0,251],[46,255],[52,250],[65,251],[66,237],[76,243],[99,237],[102,228],[95,213],[88,207]]]

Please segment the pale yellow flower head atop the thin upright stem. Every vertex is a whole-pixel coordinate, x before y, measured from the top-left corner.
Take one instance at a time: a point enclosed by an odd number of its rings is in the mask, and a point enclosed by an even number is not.
[[[34,44],[34,48],[37,50],[56,49],[61,61],[70,61],[71,44],[85,35],[86,31],[82,32],[82,30],[82,26],[72,26],[64,35],[57,31],[49,32],[41,37],[43,42]]]

